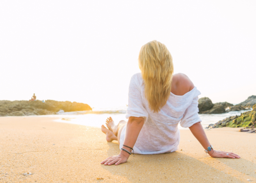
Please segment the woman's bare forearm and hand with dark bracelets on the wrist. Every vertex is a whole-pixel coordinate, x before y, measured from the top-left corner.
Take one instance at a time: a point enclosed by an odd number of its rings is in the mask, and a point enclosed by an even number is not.
[[[126,126],[126,133],[124,138],[124,145],[129,146],[131,148],[134,147],[134,144],[139,136],[139,132],[144,124],[143,117],[130,117]],[[123,144],[122,144],[123,145]],[[126,149],[130,152],[130,148],[122,146],[123,149]],[[111,156],[101,162],[104,165],[119,165],[121,163],[125,163],[129,158],[130,154],[121,150],[119,155]]]

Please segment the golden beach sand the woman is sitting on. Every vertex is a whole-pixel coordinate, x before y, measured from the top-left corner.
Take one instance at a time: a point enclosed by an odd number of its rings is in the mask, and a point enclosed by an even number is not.
[[[211,158],[189,130],[181,130],[176,152],[135,154],[105,166],[102,160],[119,153],[117,141],[106,142],[99,128],[54,119],[0,117],[0,182],[256,182],[256,134],[239,128],[205,131],[215,149],[240,159]]]

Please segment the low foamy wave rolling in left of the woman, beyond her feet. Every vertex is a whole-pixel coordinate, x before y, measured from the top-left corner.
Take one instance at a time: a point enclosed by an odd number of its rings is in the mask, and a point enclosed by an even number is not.
[[[86,114],[126,114],[126,110],[102,110],[102,111],[73,111],[73,112],[64,112],[60,110],[57,112],[58,115],[86,115]]]

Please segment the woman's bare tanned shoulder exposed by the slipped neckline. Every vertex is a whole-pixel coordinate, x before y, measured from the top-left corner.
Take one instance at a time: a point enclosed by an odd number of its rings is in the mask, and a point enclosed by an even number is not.
[[[175,95],[184,95],[194,88],[193,82],[186,74],[177,73],[173,75],[171,92]]]

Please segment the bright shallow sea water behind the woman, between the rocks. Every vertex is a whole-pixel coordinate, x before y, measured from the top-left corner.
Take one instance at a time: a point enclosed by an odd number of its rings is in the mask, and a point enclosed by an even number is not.
[[[101,127],[102,124],[105,125],[106,119],[108,117],[112,117],[115,124],[118,124],[121,120],[126,120],[126,106],[121,107],[112,107],[112,108],[94,108],[92,111],[75,111],[75,112],[64,112],[59,111],[57,115],[44,115],[45,117],[58,117],[59,119],[55,120],[56,122],[66,122],[71,124],[80,124],[85,126],[93,126],[93,127]],[[202,122],[202,126],[206,128],[209,124],[215,124],[219,120],[223,120],[229,116],[241,115],[249,110],[245,111],[231,111],[223,114],[199,114]],[[106,126],[106,125],[105,125]],[[179,129],[188,129],[182,128],[180,124],[178,124]]]

